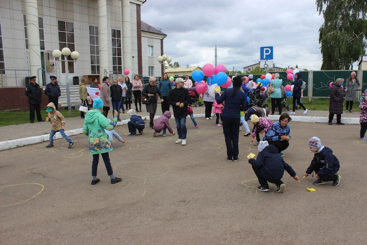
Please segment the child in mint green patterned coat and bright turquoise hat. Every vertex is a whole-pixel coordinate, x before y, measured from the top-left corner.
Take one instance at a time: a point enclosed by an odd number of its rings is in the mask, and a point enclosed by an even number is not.
[[[108,152],[113,150],[111,142],[108,140],[108,135],[105,129],[112,130],[117,125],[117,111],[113,112],[113,121],[109,122],[105,116],[103,116],[101,109],[103,107],[103,102],[101,99],[97,98],[93,102],[93,109],[89,110],[85,115],[85,121],[83,126],[83,133],[87,135],[89,142],[89,150],[93,155],[92,161],[92,185],[99,182],[97,178],[97,167],[99,161],[99,154],[102,155],[102,159],[105,163],[107,173],[111,178],[111,184],[115,184],[121,181],[121,178],[115,177],[113,174],[112,166],[110,163],[110,158]]]

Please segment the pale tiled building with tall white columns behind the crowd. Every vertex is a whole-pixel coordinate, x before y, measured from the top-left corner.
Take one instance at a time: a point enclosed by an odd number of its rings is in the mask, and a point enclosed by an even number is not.
[[[144,2],[0,0],[1,86],[25,86],[25,77],[33,75],[41,85],[49,75],[73,84],[73,77],[120,77],[124,69],[129,77],[160,76],[163,66],[156,57],[163,54],[167,35],[141,21]],[[65,63],[52,56],[52,50],[63,47],[80,54],[76,63],[69,62],[67,79]]]

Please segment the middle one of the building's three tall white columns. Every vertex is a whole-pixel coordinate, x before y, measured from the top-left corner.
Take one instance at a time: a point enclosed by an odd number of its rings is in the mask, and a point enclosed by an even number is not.
[[[99,39],[99,75],[103,77],[108,69],[108,38],[107,38],[107,4],[106,0],[98,0],[98,39]]]

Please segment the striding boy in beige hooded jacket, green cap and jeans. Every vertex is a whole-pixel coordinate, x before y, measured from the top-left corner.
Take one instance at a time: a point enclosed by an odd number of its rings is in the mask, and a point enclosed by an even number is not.
[[[71,148],[75,142],[72,141],[68,135],[64,132],[64,126],[65,126],[65,118],[62,116],[60,111],[56,110],[56,107],[54,103],[48,103],[46,111],[48,112],[48,117],[46,118],[46,122],[50,122],[52,124],[51,126],[51,132],[50,132],[50,144],[46,146],[46,148],[54,147],[54,135],[59,132],[62,137],[66,139],[66,141],[69,142],[69,147]]]

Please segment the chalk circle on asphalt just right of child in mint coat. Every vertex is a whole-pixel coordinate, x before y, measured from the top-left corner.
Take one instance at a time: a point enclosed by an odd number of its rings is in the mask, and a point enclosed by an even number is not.
[[[136,178],[153,178],[171,171],[167,164],[157,161],[128,161],[115,166],[115,174]]]

